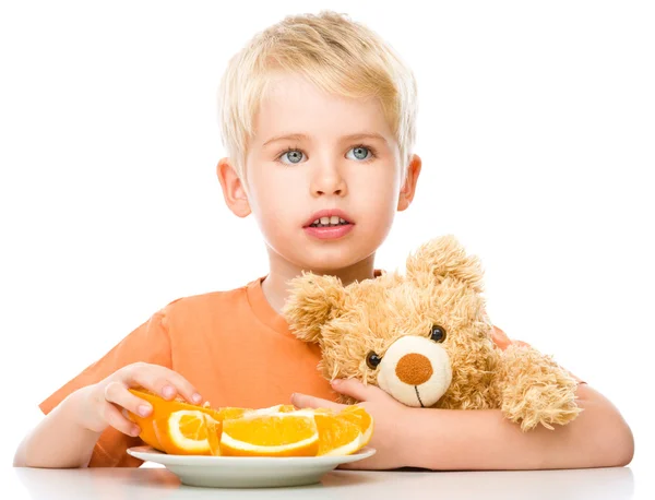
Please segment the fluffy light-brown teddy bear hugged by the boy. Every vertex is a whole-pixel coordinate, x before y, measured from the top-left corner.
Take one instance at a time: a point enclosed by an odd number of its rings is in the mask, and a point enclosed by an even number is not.
[[[378,385],[408,406],[499,408],[523,431],[581,413],[577,382],[550,356],[492,342],[480,260],[453,235],[421,245],[405,267],[347,286],[311,272],[289,282],[283,314],[320,346],[323,377]]]

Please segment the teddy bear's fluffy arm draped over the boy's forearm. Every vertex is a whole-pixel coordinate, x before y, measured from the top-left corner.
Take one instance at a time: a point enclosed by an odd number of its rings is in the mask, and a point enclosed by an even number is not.
[[[496,383],[500,409],[524,431],[568,424],[582,410],[575,404],[576,381],[527,345],[510,345],[500,355]]]

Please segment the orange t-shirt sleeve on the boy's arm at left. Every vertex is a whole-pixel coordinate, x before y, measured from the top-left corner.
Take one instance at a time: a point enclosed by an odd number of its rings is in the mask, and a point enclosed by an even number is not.
[[[165,310],[153,314],[148,321],[131,332],[105,356],[55,391],[39,404],[49,414],[61,401],[78,389],[99,382],[118,369],[138,361],[171,368],[170,338],[166,330]],[[133,438],[107,427],[100,434],[88,464],[90,467],[138,467],[143,461],[127,453],[127,449],[143,444]]]

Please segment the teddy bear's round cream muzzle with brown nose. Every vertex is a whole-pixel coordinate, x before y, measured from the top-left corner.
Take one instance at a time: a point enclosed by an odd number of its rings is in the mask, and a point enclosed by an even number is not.
[[[395,341],[386,349],[378,372],[378,385],[407,406],[432,406],[451,381],[452,369],[445,349],[416,335]]]

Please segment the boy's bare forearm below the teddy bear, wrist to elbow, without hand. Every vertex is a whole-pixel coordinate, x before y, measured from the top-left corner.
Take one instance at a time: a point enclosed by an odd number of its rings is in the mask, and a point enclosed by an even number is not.
[[[623,466],[632,432],[617,408],[588,384],[577,388],[577,418],[527,432],[498,409],[406,408],[397,451],[407,466],[431,469],[547,469]],[[374,457],[374,456],[373,456]]]

